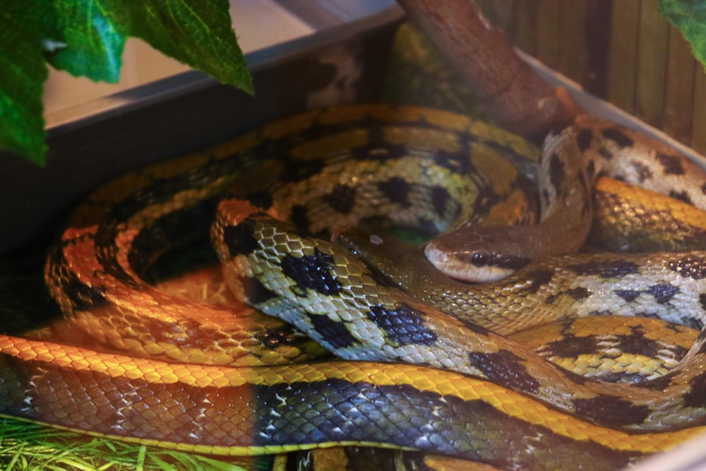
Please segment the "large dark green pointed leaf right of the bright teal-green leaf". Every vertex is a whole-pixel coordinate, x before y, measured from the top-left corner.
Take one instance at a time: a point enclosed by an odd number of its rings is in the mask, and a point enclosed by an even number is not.
[[[94,1],[124,35],[140,37],[222,83],[253,93],[227,0]]]

